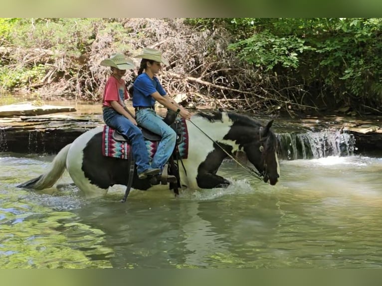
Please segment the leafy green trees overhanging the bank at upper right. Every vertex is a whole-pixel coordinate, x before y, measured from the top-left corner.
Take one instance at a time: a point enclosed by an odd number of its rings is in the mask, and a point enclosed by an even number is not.
[[[252,32],[229,46],[240,60],[294,78],[331,102],[381,104],[382,19],[233,18],[230,24],[237,35]]]

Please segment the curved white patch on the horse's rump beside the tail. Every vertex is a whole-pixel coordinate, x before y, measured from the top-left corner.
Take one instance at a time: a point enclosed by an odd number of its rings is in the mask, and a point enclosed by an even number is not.
[[[102,132],[102,128],[95,128],[85,132],[70,146],[68,155],[66,157],[66,168],[70,177],[77,187],[83,191],[87,197],[102,196],[107,193],[107,189],[101,189],[96,185],[90,183],[90,180],[85,177],[82,170],[83,149],[89,140],[97,133]],[[101,166],[100,166],[101,167]]]

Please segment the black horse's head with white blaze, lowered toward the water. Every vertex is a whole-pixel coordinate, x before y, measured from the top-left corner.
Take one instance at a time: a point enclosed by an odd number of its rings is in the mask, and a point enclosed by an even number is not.
[[[275,185],[280,177],[280,167],[277,157],[277,139],[270,130],[273,120],[266,127],[254,128],[248,135],[248,141],[243,143],[243,150],[249,162],[263,175],[264,182],[269,180]]]

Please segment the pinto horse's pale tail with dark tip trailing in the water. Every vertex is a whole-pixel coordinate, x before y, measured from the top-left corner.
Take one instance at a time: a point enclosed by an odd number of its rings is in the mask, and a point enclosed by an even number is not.
[[[62,176],[66,169],[66,156],[71,144],[63,147],[54,157],[49,169],[37,178],[19,184],[18,188],[42,190],[53,186],[53,184]]]

